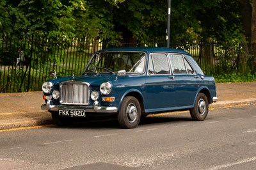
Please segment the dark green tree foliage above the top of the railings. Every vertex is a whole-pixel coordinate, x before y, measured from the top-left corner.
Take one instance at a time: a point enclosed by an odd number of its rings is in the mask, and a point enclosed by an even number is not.
[[[166,0],[2,0],[0,33],[40,33],[101,40],[166,36]],[[239,2],[172,1],[171,41],[243,40]]]

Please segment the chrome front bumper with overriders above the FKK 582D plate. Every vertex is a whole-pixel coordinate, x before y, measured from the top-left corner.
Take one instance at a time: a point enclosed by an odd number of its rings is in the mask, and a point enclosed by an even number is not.
[[[86,112],[117,112],[116,107],[99,106],[98,102],[94,102],[93,107],[88,107],[79,105],[51,105],[51,100],[48,100],[47,104],[41,105],[41,109],[48,111],[58,111],[59,109],[82,109]]]

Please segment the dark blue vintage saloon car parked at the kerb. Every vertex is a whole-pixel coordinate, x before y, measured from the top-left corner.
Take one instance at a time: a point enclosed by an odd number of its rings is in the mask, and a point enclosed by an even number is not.
[[[49,79],[42,90],[42,109],[57,125],[72,117],[116,115],[120,127],[135,128],[142,116],[179,110],[205,120],[218,100],[214,78],[191,54],[168,48],[99,50],[82,75]]]

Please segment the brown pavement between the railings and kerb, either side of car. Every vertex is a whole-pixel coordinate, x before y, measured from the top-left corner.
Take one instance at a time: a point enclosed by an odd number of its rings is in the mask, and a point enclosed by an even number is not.
[[[211,108],[256,104],[256,82],[218,83],[218,102]],[[41,110],[42,91],[0,93],[0,130],[50,125],[51,114]]]

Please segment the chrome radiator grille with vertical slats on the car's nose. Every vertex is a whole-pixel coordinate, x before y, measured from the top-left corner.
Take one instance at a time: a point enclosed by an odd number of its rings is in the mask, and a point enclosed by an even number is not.
[[[88,84],[79,82],[63,82],[60,84],[60,103],[72,105],[88,105]]]

